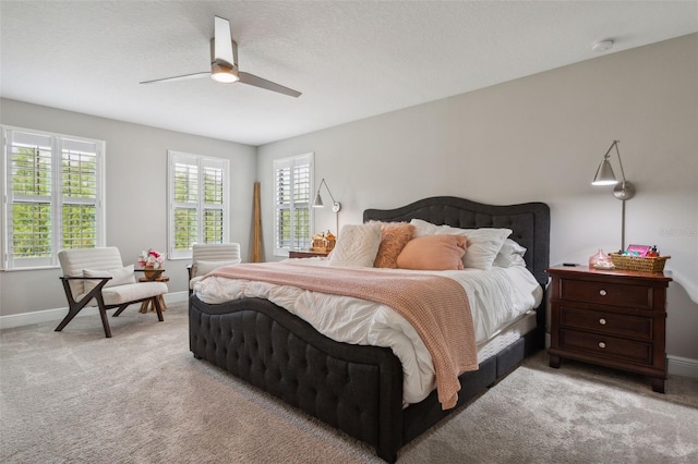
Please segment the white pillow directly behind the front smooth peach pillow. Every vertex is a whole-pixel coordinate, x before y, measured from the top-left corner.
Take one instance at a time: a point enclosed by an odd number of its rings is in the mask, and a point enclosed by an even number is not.
[[[504,241],[512,234],[510,229],[458,229],[450,225],[435,225],[421,219],[412,219],[410,224],[414,225],[414,236],[423,235],[465,235],[468,239],[468,248],[462,257],[466,268],[489,270],[492,269],[494,258],[496,258]]]

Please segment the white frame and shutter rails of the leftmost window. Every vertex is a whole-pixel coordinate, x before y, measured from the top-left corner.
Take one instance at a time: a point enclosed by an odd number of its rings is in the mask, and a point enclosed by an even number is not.
[[[55,132],[38,131],[27,127],[0,125],[2,132],[2,160],[0,162],[0,187],[2,192],[2,205],[0,209],[0,269],[3,271],[52,269],[60,267],[58,252],[63,249],[63,206],[64,205],[94,205],[95,207],[95,247],[106,244],[106,151],[105,141],[59,134]],[[50,193],[46,196],[17,195],[13,192],[12,179],[12,146],[22,145],[15,142],[15,134],[23,134],[25,139],[45,138],[50,150]],[[63,185],[63,150],[75,150],[71,147],[80,145],[94,145],[95,154],[95,198],[64,196]],[[37,145],[38,146],[38,145]],[[87,151],[86,151],[87,152]],[[15,196],[19,198],[15,200]],[[15,258],[12,243],[13,222],[12,207],[15,203],[39,203],[44,198],[51,211],[50,256],[35,258]]]

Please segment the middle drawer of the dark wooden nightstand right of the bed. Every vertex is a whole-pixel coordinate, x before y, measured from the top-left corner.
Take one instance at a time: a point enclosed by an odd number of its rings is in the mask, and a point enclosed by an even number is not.
[[[606,312],[559,307],[559,325],[575,329],[591,330],[602,334],[633,337],[652,340],[652,319]]]

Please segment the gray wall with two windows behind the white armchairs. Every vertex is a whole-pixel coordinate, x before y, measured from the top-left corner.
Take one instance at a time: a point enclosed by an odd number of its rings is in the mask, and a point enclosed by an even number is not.
[[[255,147],[139,124],[0,100],[2,124],[106,141],[107,245],[124,264],[142,249],[167,251],[167,150],[230,160],[230,240],[250,259]],[[166,262],[170,292],[186,291],[185,260]],[[67,307],[60,270],[0,271],[0,315]]]

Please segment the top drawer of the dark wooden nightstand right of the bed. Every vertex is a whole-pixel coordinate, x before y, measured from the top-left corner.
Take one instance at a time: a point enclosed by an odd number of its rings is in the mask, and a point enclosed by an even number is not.
[[[646,285],[562,279],[561,298],[652,309],[652,288]]]

